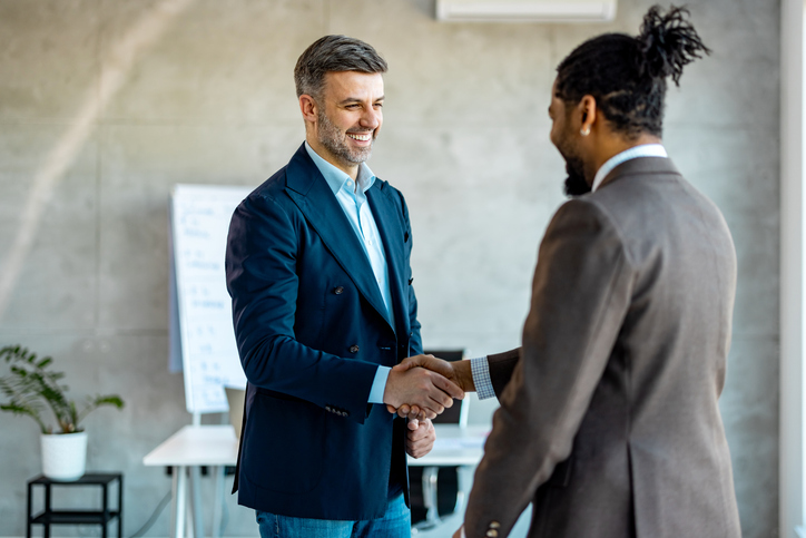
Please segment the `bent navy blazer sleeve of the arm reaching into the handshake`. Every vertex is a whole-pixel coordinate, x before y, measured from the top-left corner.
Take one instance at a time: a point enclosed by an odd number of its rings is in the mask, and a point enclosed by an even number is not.
[[[364,421],[377,364],[314,350],[295,339],[302,217],[268,196],[235,211],[227,238],[227,288],[240,362],[249,383],[337,407]]]

